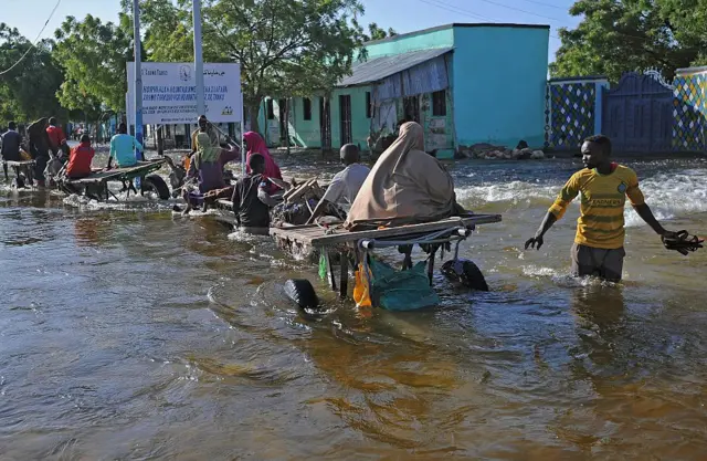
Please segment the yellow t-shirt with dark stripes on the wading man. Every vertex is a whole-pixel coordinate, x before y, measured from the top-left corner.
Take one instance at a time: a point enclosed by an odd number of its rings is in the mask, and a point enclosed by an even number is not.
[[[626,197],[634,206],[643,205],[645,200],[635,171],[622,165],[615,165],[610,175],[587,168],[577,171],[560,191],[550,212],[559,220],[577,195],[581,196],[581,203],[574,242],[606,250],[622,248]]]

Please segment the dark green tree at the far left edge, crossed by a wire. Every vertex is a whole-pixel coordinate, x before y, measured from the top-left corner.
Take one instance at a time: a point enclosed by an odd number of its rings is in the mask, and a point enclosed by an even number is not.
[[[33,46],[17,29],[0,23],[0,72],[28,53],[14,69],[0,75],[0,121],[66,115],[56,98],[64,77],[52,61],[52,46],[51,40]]]

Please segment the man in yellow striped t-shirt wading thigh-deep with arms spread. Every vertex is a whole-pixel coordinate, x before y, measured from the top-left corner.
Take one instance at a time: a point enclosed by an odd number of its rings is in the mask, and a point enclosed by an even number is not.
[[[539,250],[542,247],[545,233],[562,218],[570,202],[580,195],[580,217],[572,245],[572,275],[595,275],[618,282],[626,254],[623,250],[626,197],[633,209],[658,235],[672,238],[675,232],[663,229],[653,216],[639,188],[635,171],[611,161],[611,140],[606,136],[587,138],[582,145],[582,160],[587,168],[577,171],[567,181],[540,229],[526,242],[526,250]]]

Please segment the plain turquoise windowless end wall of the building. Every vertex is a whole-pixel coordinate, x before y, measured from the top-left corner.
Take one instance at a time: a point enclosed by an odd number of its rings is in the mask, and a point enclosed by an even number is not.
[[[454,28],[457,145],[544,145],[548,41],[545,28]]]

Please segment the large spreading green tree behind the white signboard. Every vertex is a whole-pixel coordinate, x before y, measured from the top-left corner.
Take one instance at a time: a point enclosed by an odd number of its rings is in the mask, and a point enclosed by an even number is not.
[[[190,3],[143,3],[150,59],[192,59]],[[350,72],[363,41],[351,20],[362,12],[358,0],[204,0],[204,61],[241,64],[244,106],[257,130],[264,96],[310,95]]]

